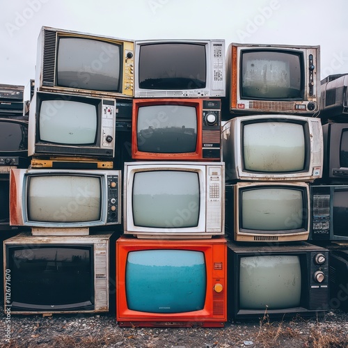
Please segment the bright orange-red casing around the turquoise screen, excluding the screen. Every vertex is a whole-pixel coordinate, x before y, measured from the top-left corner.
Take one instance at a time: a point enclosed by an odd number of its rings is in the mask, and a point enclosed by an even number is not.
[[[125,265],[129,251],[202,251],[205,255],[207,287],[203,310],[184,313],[142,313],[127,308]],[[223,327],[227,321],[227,249],[223,236],[212,239],[136,239],[122,235],[116,240],[116,319],[120,326]],[[215,291],[217,284],[221,292]]]

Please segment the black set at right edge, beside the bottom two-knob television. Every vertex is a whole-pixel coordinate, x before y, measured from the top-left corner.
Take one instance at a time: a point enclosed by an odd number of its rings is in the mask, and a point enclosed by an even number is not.
[[[348,311],[348,250],[347,246],[330,250],[330,308]]]

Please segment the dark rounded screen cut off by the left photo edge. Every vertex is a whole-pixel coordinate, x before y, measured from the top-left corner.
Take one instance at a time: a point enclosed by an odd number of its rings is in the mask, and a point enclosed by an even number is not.
[[[0,122],[0,150],[28,149],[28,127],[16,122]]]

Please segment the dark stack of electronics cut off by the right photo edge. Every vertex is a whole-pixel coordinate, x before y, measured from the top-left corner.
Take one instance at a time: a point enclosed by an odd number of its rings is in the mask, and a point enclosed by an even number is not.
[[[348,74],[322,80],[324,172],[311,187],[310,240],[330,251],[330,307],[348,310]]]

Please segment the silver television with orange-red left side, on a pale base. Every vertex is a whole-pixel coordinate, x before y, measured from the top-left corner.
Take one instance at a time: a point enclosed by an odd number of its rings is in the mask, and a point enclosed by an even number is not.
[[[33,235],[88,235],[121,223],[120,188],[120,171],[11,169],[10,225]]]

